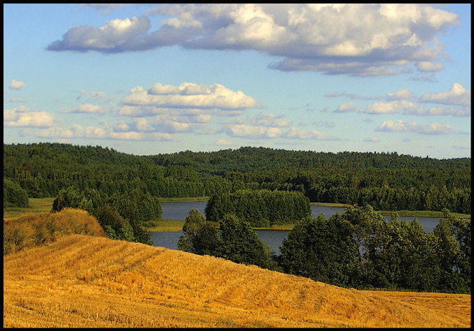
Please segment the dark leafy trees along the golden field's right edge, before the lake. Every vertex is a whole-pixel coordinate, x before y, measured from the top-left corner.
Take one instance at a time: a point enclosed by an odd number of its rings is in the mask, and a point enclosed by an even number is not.
[[[369,205],[349,206],[330,219],[307,216],[275,256],[233,212],[220,216],[216,227],[194,209],[178,249],[346,288],[471,293],[471,219],[444,213],[431,233],[397,214],[387,222]]]

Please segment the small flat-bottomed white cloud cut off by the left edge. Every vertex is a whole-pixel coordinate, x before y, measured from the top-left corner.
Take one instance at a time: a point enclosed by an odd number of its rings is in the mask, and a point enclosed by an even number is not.
[[[58,119],[49,112],[36,112],[24,106],[3,110],[3,126],[54,126]]]

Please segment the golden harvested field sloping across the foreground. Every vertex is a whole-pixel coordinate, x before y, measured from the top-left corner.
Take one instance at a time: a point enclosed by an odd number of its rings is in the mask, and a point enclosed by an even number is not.
[[[3,327],[470,328],[471,295],[345,289],[72,233],[4,256]]]

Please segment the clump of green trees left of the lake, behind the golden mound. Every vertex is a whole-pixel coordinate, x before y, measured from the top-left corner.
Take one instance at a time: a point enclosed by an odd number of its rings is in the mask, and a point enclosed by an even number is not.
[[[139,189],[111,196],[95,189],[61,189],[53,201],[52,212],[72,207],[84,209],[95,216],[107,237],[151,245],[150,234],[144,230],[148,221],[160,219],[162,207],[158,198]]]

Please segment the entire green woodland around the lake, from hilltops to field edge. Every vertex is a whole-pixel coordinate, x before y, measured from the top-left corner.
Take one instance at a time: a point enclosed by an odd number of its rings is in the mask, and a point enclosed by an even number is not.
[[[107,237],[151,244],[159,198],[208,197],[178,248],[355,288],[471,293],[471,159],[396,153],[286,151],[134,156],[59,143],[3,145],[3,207],[54,197],[52,212],[86,210]],[[350,204],[329,220],[310,202]],[[432,233],[377,210],[439,210]],[[253,228],[293,223],[280,256]],[[5,235],[5,231],[4,231]],[[17,234],[10,241],[17,241]],[[5,238],[4,238],[5,242]]]

